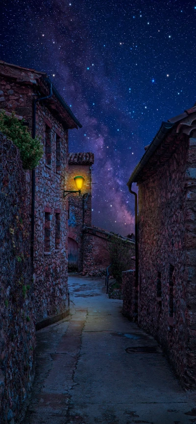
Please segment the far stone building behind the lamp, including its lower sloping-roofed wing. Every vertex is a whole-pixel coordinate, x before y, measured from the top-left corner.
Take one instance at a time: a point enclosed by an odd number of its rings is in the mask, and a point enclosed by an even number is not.
[[[81,196],[78,193],[68,193],[68,270],[78,271],[83,275],[101,277],[105,275],[106,268],[110,265],[108,244],[114,233],[92,225],[92,165],[94,154],[70,153],[69,176],[67,189],[76,190],[74,178],[81,176],[84,185]],[[125,237],[120,240],[127,241],[130,249],[134,243]]]

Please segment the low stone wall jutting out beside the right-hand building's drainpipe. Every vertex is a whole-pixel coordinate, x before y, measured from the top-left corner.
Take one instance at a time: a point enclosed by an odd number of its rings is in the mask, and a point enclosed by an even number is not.
[[[137,321],[138,317],[138,288],[136,287],[135,270],[123,271],[123,310],[124,316],[131,321]]]

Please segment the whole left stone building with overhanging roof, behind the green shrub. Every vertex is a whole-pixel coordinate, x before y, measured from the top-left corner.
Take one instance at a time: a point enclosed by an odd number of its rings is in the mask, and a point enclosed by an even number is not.
[[[63,191],[68,178],[68,130],[81,124],[47,74],[0,61],[0,108],[25,119],[41,137],[44,154],[26,172],[33,295],[37,328],[69,312],[67,286],[68,214]]]

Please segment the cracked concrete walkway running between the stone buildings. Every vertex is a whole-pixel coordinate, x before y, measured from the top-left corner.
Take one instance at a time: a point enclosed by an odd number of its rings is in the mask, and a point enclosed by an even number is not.
[[[108,299],[104,280],[69,277],[72,315],[37,332],[37,368],[23,424],[194,424],[184,392],[153,337]],[[155,347],[135,353],[134,347]]]

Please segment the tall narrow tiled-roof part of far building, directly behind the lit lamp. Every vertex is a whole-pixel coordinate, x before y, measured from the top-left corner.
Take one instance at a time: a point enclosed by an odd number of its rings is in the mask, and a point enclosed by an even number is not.
[[[68,190],[76,190],[74,177],[81,176],[84,185],[81,196],[78,193],[68,194],[68,269],[79,271],[83,269],[83,227],[92,222],[92,165],[93,153],[70,153]]]

